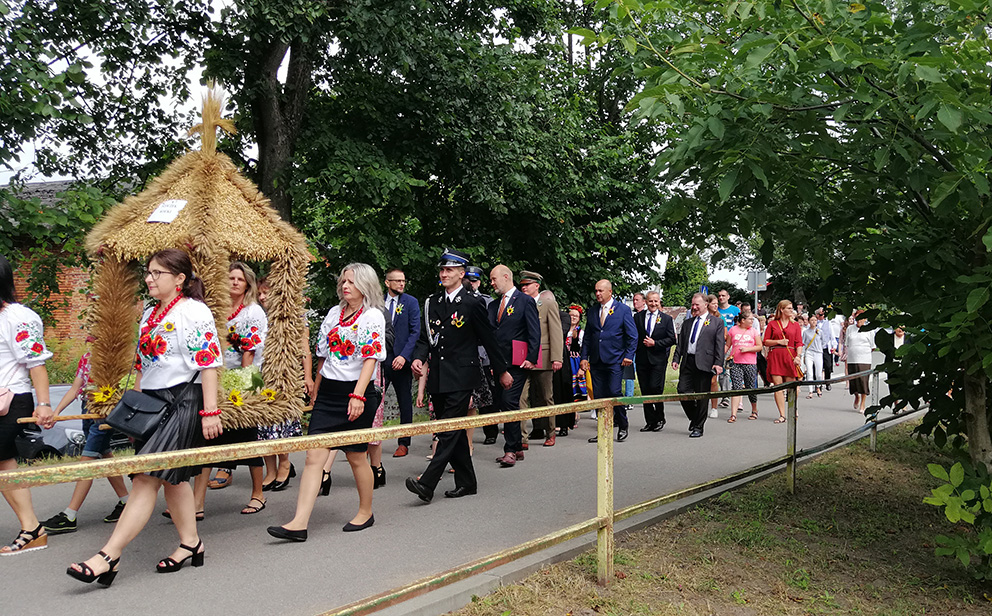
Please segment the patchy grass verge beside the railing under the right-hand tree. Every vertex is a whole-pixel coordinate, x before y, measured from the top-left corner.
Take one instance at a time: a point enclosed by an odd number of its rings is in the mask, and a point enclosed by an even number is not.
[[[475,598],[460,616],[561,614],[987,615],[992,593],[933,554],[950,524],[922,500],[947,464],[911,425],[831,452],[682,515],[618,537],[616,580],[596,585],[594,551]]]

